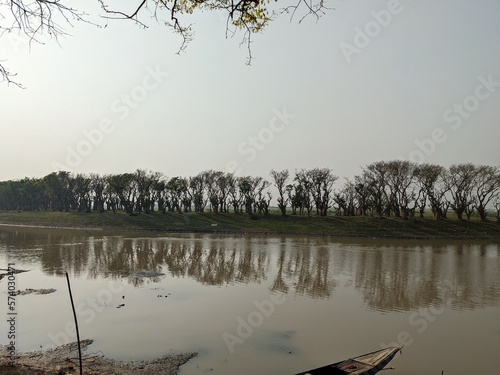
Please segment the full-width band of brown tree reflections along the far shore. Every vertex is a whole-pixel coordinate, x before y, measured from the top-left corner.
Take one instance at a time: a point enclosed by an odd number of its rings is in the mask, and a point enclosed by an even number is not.
[[[327,238],[185,235],[127,237],[74,231],[0,229],[0,254],[37,263],[49,275],[129,277],[139,286],[163,277],[222,286],[271,280],[270,290],[335,298],[352,284],[380,311],[500,301],[498,243],[361,241]],[[133,277],[137,271],[163,273]]]

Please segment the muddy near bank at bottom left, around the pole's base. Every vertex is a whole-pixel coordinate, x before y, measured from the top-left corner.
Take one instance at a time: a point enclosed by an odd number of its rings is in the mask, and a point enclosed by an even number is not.
[[[179,367],[196,356],[196,353],[166,355],[151,361],[116,361],[103,353],[87,353],[93,340],[82,340],[82,365],[86,375],[174,375]],[[79,374],[78,345],[76,342],[55,349],[17,353],[11,366],[9,347],[0,345],[0,373],[4,375],[63,375]]]

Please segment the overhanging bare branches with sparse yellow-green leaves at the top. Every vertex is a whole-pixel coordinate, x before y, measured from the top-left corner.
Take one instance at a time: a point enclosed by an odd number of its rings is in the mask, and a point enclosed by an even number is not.
[[[189,23],[189,15],[194,12],[223,12],[227,16],[226,37],[238,31],[243,33],[242,43],[248,47],[248,62],[251,61],[250,49],[252,34],[262,31],[275,17],[288,13],[291,19],[297,11],[301,13],[299,22],[308,15],[319,18],[327,9],[323,0],[296,0],[282,7],[276,7],[278,0],[137,0],[122,2],[113,0],[97,0],[104,23],[109,20],[129,20],[147,28],[151,16],[164,23],[182,37],[179,52],[186,48],[192,40],[193,26]],[[130,5],[133,3],[133,5]],[[29,38],[30,43],[40,43],[42,36],[57,39],[65,34],[65,27],[75,21],[95,24],[92,17],[84,9],[67,5],[62,0],[7,0],[0,2],[0,36],[18,33]],[[0,56],[2,58],[2,56]],[[15,73],[10,71],[5,60],[0,59],[0,78],[7,83],[20,86],[15,80]]]

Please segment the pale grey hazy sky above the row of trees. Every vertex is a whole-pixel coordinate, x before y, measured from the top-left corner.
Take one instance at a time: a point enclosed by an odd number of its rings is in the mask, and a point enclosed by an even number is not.
[[[255,35],[251,66],[216,13],[186,19],[196,35],[180,56],[180,38],[155,21],[77,22],[31,49],[3,35],[0,60],[27,88],[0,84],[0,180],[500,165],[500,1],[327,5],[319,22],[282,16]]]

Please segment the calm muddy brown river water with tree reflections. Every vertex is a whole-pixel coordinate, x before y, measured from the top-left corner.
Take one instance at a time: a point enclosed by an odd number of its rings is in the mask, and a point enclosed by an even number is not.
[[[182,375],[294,374],[395,343],[394,375],[500,371],[500,241],[0,227],[9,263],[29,270],[17,289],[56,289],[16,297],[20,351],[76,340],[68,272],[91,352],[198,352]]]

